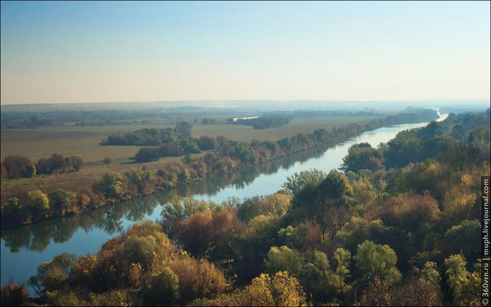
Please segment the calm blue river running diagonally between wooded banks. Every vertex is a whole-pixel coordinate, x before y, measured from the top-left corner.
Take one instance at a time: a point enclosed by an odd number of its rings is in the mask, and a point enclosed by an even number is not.
[[[448,114],[440,116],[442,121]],[[317,147],[302,153],[257,165],[224,177],[208,179],[177,189],[130,200],[112,206],[90,210],[82,214],[43,221],[38,224],[1,231],[1,284],[14,277],[16,282],[27,281],[44,261],[55,254],[68,252],[80,256],[97,252],[106,240],[121,233],[137,221],[160,217],[161,204],[175,195],[194,196],[221,203],[229,197],[245,198],[271,194],[281,189],[285,178],[301,170],[316,168],[329,172],[339,168],[349,146],[368,142],[377,146],[388,142],[402,130],[417,128],[427,123],[392,125],[363,132],[334,146]],[[34,295],[29,288],[29,294]]]

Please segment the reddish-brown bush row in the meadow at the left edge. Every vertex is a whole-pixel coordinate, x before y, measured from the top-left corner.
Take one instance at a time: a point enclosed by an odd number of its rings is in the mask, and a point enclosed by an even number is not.
[[[6,156],[1,163],[1,179],[32,177],[36,174],[59,174],[80,170],[83,160],[79,156],[64,157],[60,153],[53,153],[49,158],[39,158],[36,164],[25,156]]]

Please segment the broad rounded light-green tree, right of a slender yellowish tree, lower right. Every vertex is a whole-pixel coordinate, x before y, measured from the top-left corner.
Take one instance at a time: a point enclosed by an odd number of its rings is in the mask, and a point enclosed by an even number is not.
[[[389,245],[377,245],[366,240],[356,250],[356,268],[368,280],[380,278],[394,285],[402,278],[396,268],[397,255]]]

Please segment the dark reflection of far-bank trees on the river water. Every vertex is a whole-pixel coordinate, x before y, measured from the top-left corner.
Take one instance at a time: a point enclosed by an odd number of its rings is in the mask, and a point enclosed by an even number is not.
[[[52,239],[55,243],[64,243],[72,238],[79,228],[82,228],[86,233],[93,231],[94,228],[101,229],[112,235],[123,231],[123,218],[135,222],[142,221],[152,215],[159,204],[168,203],[175,195],[184,197],[196,194],[216,195],[227,186],[232,186],[234,189],[245,189],[261,174],[278,172],[281,168],[288,170],[297,162],[302,163],[311,158],[321,158],[318,156],[319,153],[323,153],[330,147],[314,147],[269,163],[255,165],[254,168],[227,172],[227,174],[220,177],[179,186],[176,189],[163,191],[152,196],[100,207],[81,214],[48,219],[21,228],[8,229],[1,232],[1,238],[4,240],[5,246],[10,249],[10,252],[17,253],[20,252],[21,248],[26,248],[32,252],[41,253],[46,250]]]

